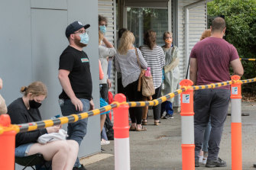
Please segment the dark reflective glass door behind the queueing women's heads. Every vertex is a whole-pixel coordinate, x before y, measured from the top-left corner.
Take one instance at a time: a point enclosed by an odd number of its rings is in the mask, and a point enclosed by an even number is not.
[[[168,30],[167,8],[134,8],[127,7],[127,28],[133,32],[135,47],[144,44],[143,37],[147,30],[157,33],[157,45],[164,45],[163,34]]]

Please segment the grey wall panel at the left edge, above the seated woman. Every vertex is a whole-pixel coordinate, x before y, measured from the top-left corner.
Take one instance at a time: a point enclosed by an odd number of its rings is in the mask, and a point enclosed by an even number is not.
[[[0,94],[10,104],[21,97],[21,86],[31,82],[30,1],[0,1]]]

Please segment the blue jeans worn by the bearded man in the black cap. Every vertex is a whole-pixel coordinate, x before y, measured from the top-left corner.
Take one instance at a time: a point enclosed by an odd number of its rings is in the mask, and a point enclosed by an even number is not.
[[[76,111],[76,107],[73,105],[70,99],[60,99],[60,109],[63,116],[69,116],[70,114],[80,114],[86,111],[89,111],[89,100],[85,98],[79,98],[80,101],[83,103],[83,111]],[[86,136],[87,131],[87,121],[88,118],[83,120],[78,120],[74,123],[68,123],[67,125],[67,140],[76,140],[79,144],[82,143],[83,137]],[[76,159],[76,163],[74,167],[79,167],[80,162],[79,159]]]

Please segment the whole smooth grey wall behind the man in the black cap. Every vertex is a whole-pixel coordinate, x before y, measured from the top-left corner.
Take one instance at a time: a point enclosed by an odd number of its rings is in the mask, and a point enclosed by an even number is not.
[[[59,57],[67,47],[66,26],[73,21],[90,24],[89,45],[94,102],[99,107],[98,2],[90,0],[2,0],[0,2],[0,91],[10,104],[22,95],[21,86],[34,81],[47,85],[49,94],[41,107],[43,119],[61,114],[57,79]],[[90,117],[79,156],[100,151],[99,116]],[[19,169],[19,168],[16,168]]]

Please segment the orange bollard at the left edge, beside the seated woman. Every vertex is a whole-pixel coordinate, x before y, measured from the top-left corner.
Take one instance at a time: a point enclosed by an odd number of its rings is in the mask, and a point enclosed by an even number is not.
[[[0,117],[0,127],[9,127],[11,119],[8,114]],[[0,169],[15,169],[15,130],[6,131],[0,135]]]

